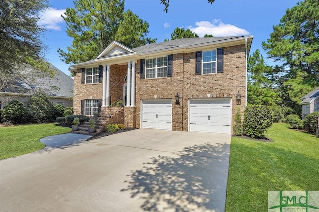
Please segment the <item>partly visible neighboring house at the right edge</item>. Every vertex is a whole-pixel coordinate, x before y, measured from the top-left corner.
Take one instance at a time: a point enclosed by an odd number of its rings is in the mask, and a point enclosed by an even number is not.
[[[303,107],[303,119],[312,112],[319,112],[319,87],[300,98]]]

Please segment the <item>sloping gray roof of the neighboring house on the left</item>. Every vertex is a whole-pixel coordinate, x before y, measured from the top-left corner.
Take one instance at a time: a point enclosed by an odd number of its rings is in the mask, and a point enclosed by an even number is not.
[[[73,97],[73,79],[52,64],[50,68],[56,70],[55,76],[21,80],[15,86],[5,88],[1,92],[32,95],[37,91],[42,91],[48,96]]]

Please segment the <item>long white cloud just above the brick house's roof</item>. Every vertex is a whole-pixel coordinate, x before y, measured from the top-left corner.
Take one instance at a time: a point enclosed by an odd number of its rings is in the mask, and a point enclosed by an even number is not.
[[[249,35],[245,29],[238,28],[237,26],[231,24],[224,24],[220,20],[209,21],[199,21],[195,23],[195,27],[188,26],[192,32],[195,32],[199,37],[204,37],[205,34],[211,34],[214,37],[225,37],[225,36],[242,36]]]

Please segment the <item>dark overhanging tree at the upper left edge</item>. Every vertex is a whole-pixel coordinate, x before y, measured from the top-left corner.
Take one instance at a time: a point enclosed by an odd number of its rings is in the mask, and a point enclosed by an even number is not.
[[[43,61],[46,46],[41,41],[45,28],[37,24],[40,12],[48,7],[47,0],[0,1],[1,78],[25,64],[48,71]]]

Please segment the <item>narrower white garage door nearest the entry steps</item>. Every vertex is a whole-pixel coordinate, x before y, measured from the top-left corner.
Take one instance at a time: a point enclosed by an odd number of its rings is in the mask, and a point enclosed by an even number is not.
[[[142,128],[171,130],[171,100],[143,100]]]

